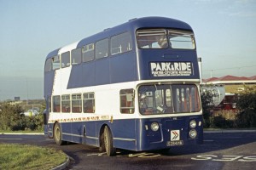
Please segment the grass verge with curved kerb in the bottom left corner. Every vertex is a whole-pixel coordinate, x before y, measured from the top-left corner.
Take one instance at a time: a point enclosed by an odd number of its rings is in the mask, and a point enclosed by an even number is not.
[[[61,150],[24,144],[0,144],[0,169],[52,169],[65,162]]]

